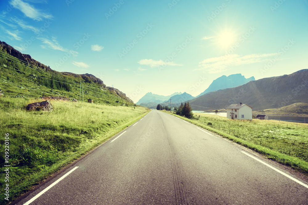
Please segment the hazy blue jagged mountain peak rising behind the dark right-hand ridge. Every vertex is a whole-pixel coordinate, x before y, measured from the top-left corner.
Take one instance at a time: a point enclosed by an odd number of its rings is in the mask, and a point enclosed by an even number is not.
[[[249,81],[254,81],[254,77],[245,78],[242,74],[233,74],[229,76],[221,76],[214,80],[211,85],[200,95],[197,97],[200,97],[206,93],[213,92],[216,90],[226,89],[226,88],[234,88],[240,85],[244,85],[248,83]]]

